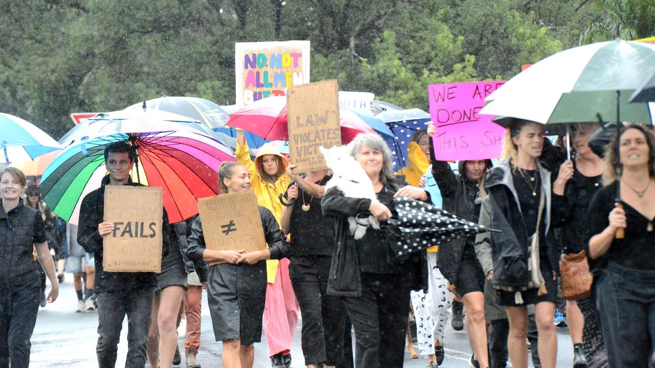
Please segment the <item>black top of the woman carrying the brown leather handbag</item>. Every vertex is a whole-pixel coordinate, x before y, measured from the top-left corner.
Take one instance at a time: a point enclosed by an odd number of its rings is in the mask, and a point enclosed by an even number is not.
[[[585,176],[578,170],[567,183],[565,197],[569,202],[569,215],[564,219],[561,247],[565,253],[578,253],[585,249],[588,209],[593,194],[603,187],[603,175]]]

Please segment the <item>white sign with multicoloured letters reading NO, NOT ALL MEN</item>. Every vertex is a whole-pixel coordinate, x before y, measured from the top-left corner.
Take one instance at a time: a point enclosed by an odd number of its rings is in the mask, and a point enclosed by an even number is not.
[[[250,105],[309,83],[309,41],[234,44],[236,105]]]

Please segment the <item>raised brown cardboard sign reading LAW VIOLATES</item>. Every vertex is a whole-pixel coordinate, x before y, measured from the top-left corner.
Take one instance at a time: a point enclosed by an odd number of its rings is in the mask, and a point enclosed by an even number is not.
[[[294,173],[327,169],[318,147],[341,145],[338,92],[336,79],[289,88],[287,120]]]

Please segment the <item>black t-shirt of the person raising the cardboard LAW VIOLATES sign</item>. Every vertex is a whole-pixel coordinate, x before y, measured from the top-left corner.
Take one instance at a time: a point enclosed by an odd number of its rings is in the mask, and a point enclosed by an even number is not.
[[[316,184],[326,185],[330,178],[331,176],[326,175]],[[303,203],[309,204],[308,211],[303,211]],[[300,186],[298,186],[298,198],[291,210],[290,232],[290,257],[332,255],[333,223],[323,215],[320,198],[310,196]]]

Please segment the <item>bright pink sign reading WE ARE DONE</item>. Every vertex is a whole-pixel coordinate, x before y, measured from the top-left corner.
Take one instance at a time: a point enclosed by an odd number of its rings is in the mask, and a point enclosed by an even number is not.
[[[485,98],[504,81],[430,84],[430,115],[436,128],[434,153],[438,160],[498,158],[505,128],[482,115]]]

